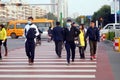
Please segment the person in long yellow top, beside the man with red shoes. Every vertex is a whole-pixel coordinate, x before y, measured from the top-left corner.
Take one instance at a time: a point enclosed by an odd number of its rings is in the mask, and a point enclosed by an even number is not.
[[[85,47],[85,29],[84,25],[80,25],[80,34],[79,34],[79,53],[80,53],[80,58],[85,59],[85,54],[84,54],[84,47]]]

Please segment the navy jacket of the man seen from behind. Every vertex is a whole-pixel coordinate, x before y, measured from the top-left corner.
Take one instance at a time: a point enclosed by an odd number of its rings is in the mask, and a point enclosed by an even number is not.
[[[52,35],[54,41],[63,41],[63,28],[61,26],[53,28]]]

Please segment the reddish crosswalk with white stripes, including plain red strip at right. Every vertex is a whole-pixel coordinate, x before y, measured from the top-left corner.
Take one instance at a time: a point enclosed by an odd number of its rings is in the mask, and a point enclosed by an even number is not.
[[[86,59],[81,60],[76,49],[75,62],[69,66],[65,49],[59,59],[53,42],[36,47],[33,66],[28,65],[24,48],[15,49],[0,62],[0,80],[114,80],[107,52],[102,43],[98,45],[97,60],[89,59],[88,45]]]

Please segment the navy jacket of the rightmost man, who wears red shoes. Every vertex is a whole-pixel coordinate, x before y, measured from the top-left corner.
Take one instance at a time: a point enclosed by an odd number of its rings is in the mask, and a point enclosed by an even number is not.
[[[97,27],[89,27],[86,33],[86,37],[89,37],[89,40],[91,41],[99,41],[100,40],[100,35],[99,35],[99,30]]]

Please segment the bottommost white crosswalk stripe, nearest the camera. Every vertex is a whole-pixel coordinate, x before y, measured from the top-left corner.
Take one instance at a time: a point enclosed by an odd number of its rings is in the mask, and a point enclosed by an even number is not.
[[[0,75],[0,78],[96,78],[95,75]]]

